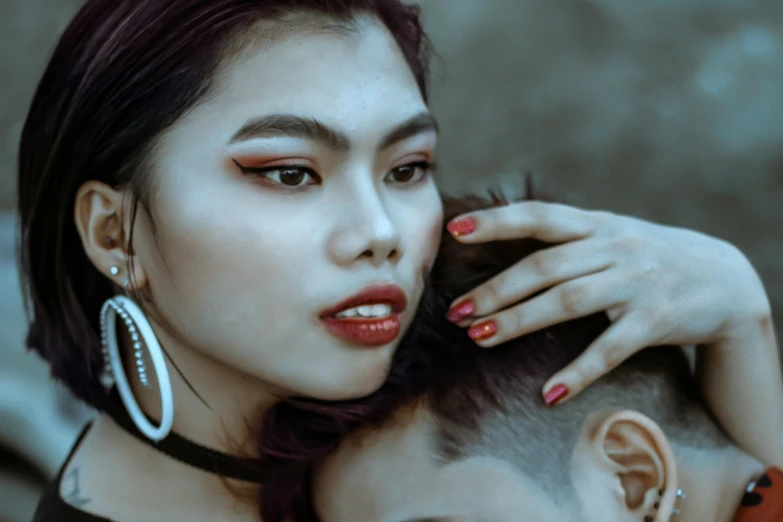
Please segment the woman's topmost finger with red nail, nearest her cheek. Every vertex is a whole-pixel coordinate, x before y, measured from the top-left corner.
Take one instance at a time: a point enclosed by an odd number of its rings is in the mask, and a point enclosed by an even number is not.
[[[565,243],[591,235],[598,224],[595,212],[560,203],[521,201],[503,207],[463,214],[447,226],[465,243],[534,238]]]

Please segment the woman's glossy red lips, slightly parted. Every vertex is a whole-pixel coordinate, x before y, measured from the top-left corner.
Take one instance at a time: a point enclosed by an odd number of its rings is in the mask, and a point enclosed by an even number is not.
[[[388,317],[377,319],[336,317],[338,313],[350,308],[371,304],[387,304],[392,307],[392,313]],[[408,298],[400,287],[376,285],[330,306],[321,312],[320,318],[329,333],[344,341],[361,346],[383,346],[399,337],[402,330],[400,314],[407,306]]]

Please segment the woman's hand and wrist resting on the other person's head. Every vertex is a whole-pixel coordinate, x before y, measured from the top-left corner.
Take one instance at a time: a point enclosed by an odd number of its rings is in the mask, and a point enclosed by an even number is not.
[[[542,202],[457,218],[465,219],[474,229],[456,235],[465,243],[522,236],[560,244],[455,300],[474,303],[474,318],[461,324],[496,323],[496,335],[480,346],[599,311],[613,320],[547,381],[544,397],[564,385],[568,393],[558,402],[568,400],[645,347],[699,345],[701,387],[718,420],[761,461],[783,464],[783,377],[770,302],[734,246],[691,230]]]

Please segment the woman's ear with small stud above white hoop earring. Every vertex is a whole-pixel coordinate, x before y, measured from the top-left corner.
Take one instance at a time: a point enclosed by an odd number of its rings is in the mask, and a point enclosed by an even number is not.
[[[99,272],[120,287],[146,285],[143,267],[128,245],[130,219],[123,192],[105,183],[88,181],[76,193],[74,221],[87,257]],[[133,273],[129,273],[131,271]]]

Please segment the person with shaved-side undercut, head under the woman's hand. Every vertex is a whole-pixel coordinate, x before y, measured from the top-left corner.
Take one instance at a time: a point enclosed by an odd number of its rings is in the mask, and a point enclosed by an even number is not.
[[[457,206],[466,204],[490,203]],[[373,416],[373,398],[354,406],[367,422],[318,463],[300,513],[321,522],[783,520],[783,471],[730,439],[682,347],[640,351],[553,408],[541,388],[605,334],[607,314],[493,350],[446,317],[471,287],[550,246],[443,240],[448,262],[433,269],[404,377],[374,398],[391,407]]]

